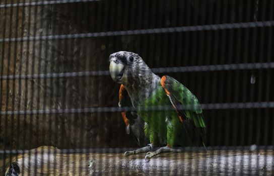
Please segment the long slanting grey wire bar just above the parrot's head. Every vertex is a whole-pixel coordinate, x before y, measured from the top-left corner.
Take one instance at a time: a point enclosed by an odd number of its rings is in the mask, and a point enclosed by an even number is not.
[[[261,22],[245,22],[245,23],[229,23],[229,24],[214,24],[201,26],[182,26],[171,28],[154,28],[141,30],[126,30],[126,31],[109,31],[109,32],[95,32],[95,33],[80,33],[80,34],[62,34],[62,35],[48,35],[48,36],[29,36],[19,38],[2,38],[0,42],[14,42],[14,41],[35,41],[35,40],[56,40],[56,39],[76,39],[76,38],[90,38],[90,37],[109,37],[109,36],[123,36],[123,35],[144,35],[144,34],[160,34],[160,33],[174,33],[174,32],[189,32],[189,31],[209,31],[209,30],[224,30],[224,29],[241,29],[241,28],[256,28],[256,27],[272,27],[274,21]]]

